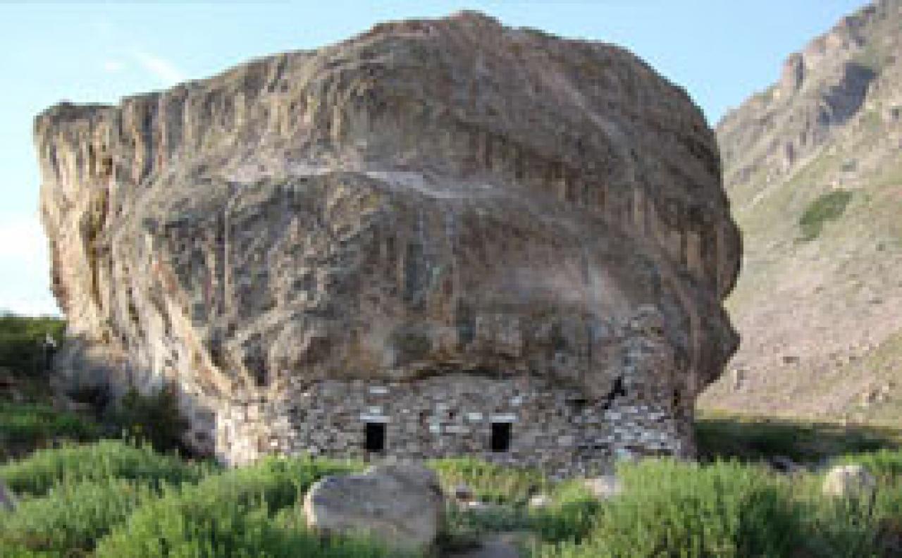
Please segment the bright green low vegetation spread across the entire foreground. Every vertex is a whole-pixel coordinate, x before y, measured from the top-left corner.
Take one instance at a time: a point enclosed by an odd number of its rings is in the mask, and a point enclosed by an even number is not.
[[[446,552],[517,531],[532,534],[522,538],[523,555],[535,558],[899,555],[902,452],[838,461],[874,472],[872,504],[822,496],[820,473],[786,476],[754,462],[624,463],[624,492],[606,501],[537,471],[474,459],[431,465],[444,485],[466,483],[493,503],[449,507]],[[21,500],[13,513],[0,512],[0,556],[397,556],[371,541],[323,539],[303,525],[300,502],[315,480],[363,466],[271,458],[222,470],[112,441],[41,450],[0,465],[0,479]],[[529,507],[537,492],[550,497],[548,506]]]

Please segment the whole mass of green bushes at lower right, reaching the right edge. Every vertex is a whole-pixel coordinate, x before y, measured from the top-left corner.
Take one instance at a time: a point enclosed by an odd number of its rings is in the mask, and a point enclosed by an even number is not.
[[[649,461],[620,469],[624,493],[578,517],[589,526],[541,558],[889,558],[902,543],[902,489],[877,499],[821,495],[815,475],[737,462]],[[592,514],[594,513],[594,517]],[[575,521],[565,526],[575,525]]]

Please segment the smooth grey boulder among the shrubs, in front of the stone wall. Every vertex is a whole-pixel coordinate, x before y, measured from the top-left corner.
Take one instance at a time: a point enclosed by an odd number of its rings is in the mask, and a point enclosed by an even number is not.
[[[308,526],[325,534],[370,535],[404,550],[435,543],[444,513],[435,472],[411,464],[327,477],[304,498]]]

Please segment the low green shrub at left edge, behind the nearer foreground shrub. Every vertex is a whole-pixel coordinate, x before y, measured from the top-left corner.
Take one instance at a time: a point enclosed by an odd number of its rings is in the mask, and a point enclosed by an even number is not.
[[[177,484],[204,476],[207,465],[154,453],[149,445],[102,440],[38,450],[25,459],[0,465],[0,479],[14,492],[41,495],[60,481],[133,479]]]

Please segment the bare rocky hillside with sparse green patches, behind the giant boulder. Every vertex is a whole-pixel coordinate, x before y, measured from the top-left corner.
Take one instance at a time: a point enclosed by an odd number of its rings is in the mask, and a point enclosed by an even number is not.
[[[741,349],[707,407],[902,416],[902,2],[863,8],[717,126]]]

